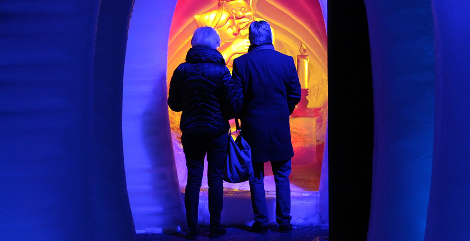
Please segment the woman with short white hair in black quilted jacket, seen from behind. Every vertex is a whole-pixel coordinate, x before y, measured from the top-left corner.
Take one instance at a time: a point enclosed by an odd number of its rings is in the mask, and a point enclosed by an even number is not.
[[[240,105],[225,60],[217,51],[220,38],[216,30],[207,26],[197,28],[191,45],[186,62],[173,72],[168,105],[173,111],[182,111],[181,143],[188,167],[184,201],[188,238],[194,239],[199,234],[197,209],[206,153],[211,215],[209,235],[217,237],[226,233],[220,226],[222,172],[229,138],[228,120],[235,117]]]

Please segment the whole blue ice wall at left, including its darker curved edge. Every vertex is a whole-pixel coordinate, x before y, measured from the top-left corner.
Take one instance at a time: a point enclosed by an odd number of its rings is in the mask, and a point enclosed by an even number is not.
[[[0,240],[135,240],[120,138],[131,7],[1,1]]]

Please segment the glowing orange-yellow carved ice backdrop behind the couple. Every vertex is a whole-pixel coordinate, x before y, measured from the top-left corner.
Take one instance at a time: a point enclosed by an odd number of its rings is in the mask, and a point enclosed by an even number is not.
[[[191,47],[192,33],[198,25],[208,25],[218,30],[222,39],[219,51],[226,58],[227,67],[231,69],[233,59],[240,53],[246,53],[249,23],[260,19],[270,23],[275,37],[274,48],[294,58],[301,71],[299,77],[303,78],[302,88],[309,89],[307,107],[315,108],[315,117],[291,118],[290,121],[296,153],[292,158],[292,182],[306,190],[316,190],[328,110],[327,36],[318,1],[178,0],[168,43],[167,83],[169,84],[173,70],[185,61],[186,52]],[[302,44],[304,47],[299,53]],[[301,56],[300,64],[298,55]],[[175,140],[175,159],[184,160],[180,145],[180,113],[169,112]],[[308,175],[312,177],[307,177]]]

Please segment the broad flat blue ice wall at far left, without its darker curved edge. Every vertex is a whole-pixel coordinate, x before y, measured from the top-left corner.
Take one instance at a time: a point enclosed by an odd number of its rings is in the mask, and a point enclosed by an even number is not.
[[[99,2],[0,3],[0,240],[96,240]]]

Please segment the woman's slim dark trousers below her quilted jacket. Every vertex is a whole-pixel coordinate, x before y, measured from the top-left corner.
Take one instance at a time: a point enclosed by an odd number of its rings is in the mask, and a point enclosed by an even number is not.
[[[219,225],[220,212],[222,211],[222,197],[224,194],[222,174],[227,154],[228,135],[203,136],[185,135],[183,133],[181,143],[183,144],[186,166],[188,167],[188,181],[184,195],[186,220],[189,225],[197,223],[199,191],[203,178],[204,157],[207,152],[209,213],[211,215],[211,225]]]

